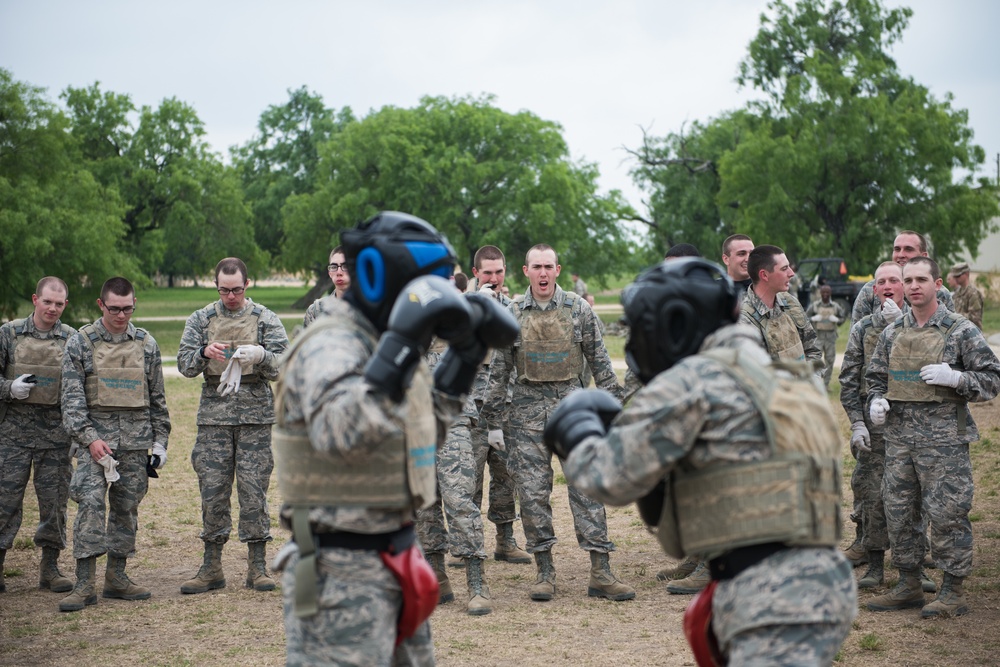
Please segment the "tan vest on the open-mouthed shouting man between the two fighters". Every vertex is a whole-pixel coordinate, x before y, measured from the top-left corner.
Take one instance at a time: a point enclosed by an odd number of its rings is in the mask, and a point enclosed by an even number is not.
[[[516,306],[521,333],[516,350],[518,382],[565,382],[583,373],[583,348],[573,326],[576,299],[567,295],[561,308],[527,311]]]

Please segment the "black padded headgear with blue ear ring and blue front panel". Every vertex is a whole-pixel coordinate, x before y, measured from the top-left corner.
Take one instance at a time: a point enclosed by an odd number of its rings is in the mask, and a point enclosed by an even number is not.
[[[396,297],[418,276],[443,278],[455,269],[455,251],[430,223],[408,213],[382,211],[340,234],[351,273],[351,301],[385,331]]]

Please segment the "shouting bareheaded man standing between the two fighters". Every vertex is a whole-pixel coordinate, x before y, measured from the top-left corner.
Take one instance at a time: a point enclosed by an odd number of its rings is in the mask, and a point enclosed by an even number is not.
[[[619,398],[622,388],[611,367],[611,358],[597,326],[597,316],[579,296],[567,295],[557,284],[561,267],[555,251],[536,245],[528,251],[523,268],[530,285],[509,306],[520,327],[513,345],[497,349],[490,363],[490,382],[483,402],[490,440],[509,447],[511,472],[521,497],[521,521],[527,550],[535,556],[538,576],[532,600],[551,600],[555,595],[552,546],[552,453],[542,445],[542,429],[549,413],[569,393],[581,388],[583,364],[590,365],[597,386]],[[506,403],[508,385],[514,381],[513,397]],[[510,444],[501,427],[510,425]],[[630,600],[635,590],[611,572],[604,505],[569,485],[569,505],[580,547],[590,552],[591,570],[587,594],[611,600]]]

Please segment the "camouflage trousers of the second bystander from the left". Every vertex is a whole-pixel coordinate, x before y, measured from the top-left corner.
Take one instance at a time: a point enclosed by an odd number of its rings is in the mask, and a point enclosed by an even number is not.
[[[149,488],[148,454],[144,449],[119,449],[113,456],[118,461],[121,478],[109,485],[104,479],[104,468],[90,456],[89,449],[81,447],[77,454],[76,470],[69,484],[69,497],[77,503],[73,524],[73,558],[77,560],[105,553],[119,558],[135,555],[139,503]]]

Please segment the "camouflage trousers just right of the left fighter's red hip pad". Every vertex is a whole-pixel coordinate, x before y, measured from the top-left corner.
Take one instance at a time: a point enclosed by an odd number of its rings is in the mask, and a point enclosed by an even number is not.
[[[479,506],[472,502],[476,474],[471,427],[469,417],[458,417],[448,429],[444,445],[438,449],[441,500],[418,511],[416,522],[420,544],[428,552],[444,552],[450,546],[452,555],[458,558],[486,558],[483,517]]]

